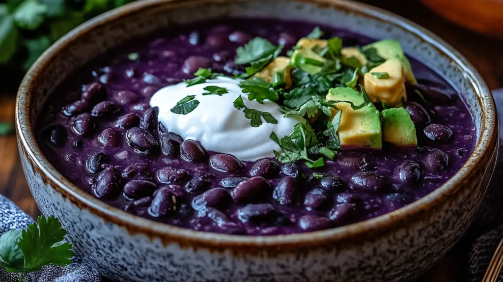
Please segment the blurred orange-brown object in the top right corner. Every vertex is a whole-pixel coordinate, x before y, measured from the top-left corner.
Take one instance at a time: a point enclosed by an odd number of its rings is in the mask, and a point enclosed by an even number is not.
[[[503,0],[421,0],[446,19],[503,38]]]

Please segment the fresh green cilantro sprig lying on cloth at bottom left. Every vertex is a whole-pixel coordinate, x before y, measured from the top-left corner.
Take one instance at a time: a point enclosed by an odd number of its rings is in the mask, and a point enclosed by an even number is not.
[[[26,230],[11,230],[0,237],[0,267],[9,272],[27,273],[45,265],[66,266],[73,256],[71,244],[64,242],[66,230],[54,216],[38,217]]]

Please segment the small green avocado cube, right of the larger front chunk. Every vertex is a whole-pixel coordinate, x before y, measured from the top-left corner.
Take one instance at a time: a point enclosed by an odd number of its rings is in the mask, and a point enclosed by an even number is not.
[[[415,126],[407,110],[392,108],[382,111],[382,139],[396,146],[417,146]]]

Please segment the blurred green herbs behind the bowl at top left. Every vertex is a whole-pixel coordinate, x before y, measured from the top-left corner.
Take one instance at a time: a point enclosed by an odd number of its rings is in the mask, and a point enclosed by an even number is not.
[[[132,0],[0,0],[2,89],[23,74],[53,42],[79,24]]]

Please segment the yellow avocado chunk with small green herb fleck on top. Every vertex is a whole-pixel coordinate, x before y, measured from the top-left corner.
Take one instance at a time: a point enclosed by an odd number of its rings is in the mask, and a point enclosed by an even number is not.
[[[387,72],[388,78],[377,78],[373,72]],[[388,107],[400,107],[407,100],[405,72],[398,58],[392,58],[365,73],[363,85],[372,101],[384,102]]]

